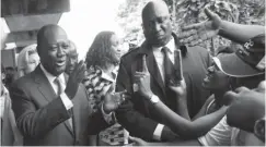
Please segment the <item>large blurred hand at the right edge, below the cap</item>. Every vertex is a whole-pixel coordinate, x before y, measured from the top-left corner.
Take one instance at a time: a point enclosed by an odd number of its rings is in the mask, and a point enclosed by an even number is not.
[[[228,124],[253,132],[255,121],[265,117],[265,82],[256,89],[246,87],[228,91],[223,99],[230,101],[227,112]]]

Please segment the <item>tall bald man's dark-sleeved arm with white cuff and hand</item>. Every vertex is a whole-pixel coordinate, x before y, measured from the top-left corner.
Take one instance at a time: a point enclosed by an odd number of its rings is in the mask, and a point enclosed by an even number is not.
[[[130,81],[130,75],[127,72],[129,70],[130,68],[128,66],[127,70],[122,59],[116,81],[116,91],[123,91],[126,89],[131,95],[131,98],[124,101],[116,110],[117,121],[126,127],[132,136],[137,136],[146,140],[153,140],[154,138],[170,140],[167,137],[172,138],[170,135],[173,134],[169,133],[170,130],[165,130],[165,127],[162,128],[161,125],[158,126],[158,122],[144,117],[136,110],[135,105],[140,102],[138,100],[140,100],[141,97],[132,93],[132,82]]]

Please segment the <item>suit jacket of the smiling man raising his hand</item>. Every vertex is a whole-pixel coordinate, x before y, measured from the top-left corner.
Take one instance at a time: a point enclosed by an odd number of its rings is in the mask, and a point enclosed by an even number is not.
[[[84,146],[88,145],[88,135],[107,126],[100,112],[91,114],[85,88],[80,84],[72,100],[72,130],[67,121],[71,113],[66,110],[39,66],[19,78],[12,85],[10,96],[18,127],[24,135],[24,145]]]

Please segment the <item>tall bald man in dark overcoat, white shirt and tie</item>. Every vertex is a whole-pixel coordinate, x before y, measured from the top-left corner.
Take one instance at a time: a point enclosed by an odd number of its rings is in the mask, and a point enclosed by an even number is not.
[[[130,135],[146,140],[173,140],[175,134],[164,125],[163,117],[158,114],[152,105],[160,99],[180,114],[174,94],[167,88],[169,76],[175,74],[166,72],[174,71],[170,70],[169,64],[172,64],[172,69],[176,69],[173,65],[174,51],[182,52],[190,117],[198,112],[209,96],[209,91],[201,88],[201,82],[211,60],[206,49],[188,48],[180,44],[177,36],[172,32],[169,9],[163,1],[151,1],[143,8],[142,23],[146,41],[141,47],[125,54],[120,61],[116,90],[127,89],[131,94],[131,99],[116,111],[116,117]],[[135,73],[141,69],[143,54],[151,75],[150,87],[154,94],[150,97],[150,101],[134,90]]]

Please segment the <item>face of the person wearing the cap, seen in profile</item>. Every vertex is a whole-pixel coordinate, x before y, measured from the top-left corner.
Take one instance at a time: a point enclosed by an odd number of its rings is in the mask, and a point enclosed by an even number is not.
[[[229,76],[222,73],[215,63],[208,68],[206,77],[203,82],[203,86],[206,89],[222,90],[228,89],[229,85]]]

